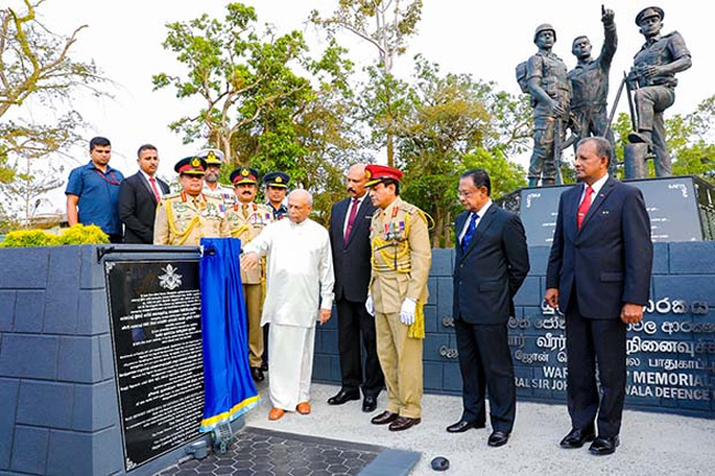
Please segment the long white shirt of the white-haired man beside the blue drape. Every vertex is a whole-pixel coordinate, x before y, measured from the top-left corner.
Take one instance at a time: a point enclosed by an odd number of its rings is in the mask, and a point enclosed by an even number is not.
[[[312,328],[321,309],[332,308],[334,276],[328,231],[310,219],[273,222],[245,245],[267,256],[266,298],[261,325]]]

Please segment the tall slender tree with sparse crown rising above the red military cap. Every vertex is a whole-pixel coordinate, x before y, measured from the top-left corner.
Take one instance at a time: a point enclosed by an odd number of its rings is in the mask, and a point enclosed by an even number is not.
[[[372,123],[373,135],[382,135],[387,148],[387,165],[394,165],[394,123],[396,114],[393,97],[399,98],[399,82],[393,77],[395,57],[407,51],[407,40],[417,33],[422,14],[422,0],[339,0],[338,10],[327,19],[317,11],[311,14],[314,23],[324,26],[331,34],[344,29],[377,49],[378,68],[370,70],[375,92],[381,92],[382,108],[375,111],[383,120]]]

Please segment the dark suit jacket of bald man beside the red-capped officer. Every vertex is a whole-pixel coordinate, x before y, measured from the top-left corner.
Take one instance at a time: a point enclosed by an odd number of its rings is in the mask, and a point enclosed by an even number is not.
[[[370,222],[375,206],[370,197],[365,196],[355,214],[348,243],[344,244],[343,225],[350,212],[351,201],[351,198],[340,200],[332,206],[330,212],[330,246],[336,274],[333,292],[336,299],[365,302],[371,273]]]

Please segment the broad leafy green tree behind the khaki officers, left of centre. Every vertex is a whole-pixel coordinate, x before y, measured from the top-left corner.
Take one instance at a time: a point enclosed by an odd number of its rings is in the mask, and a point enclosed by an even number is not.
[[[293,68],[320,79],[326,64],[307,56],[299,32],[278,36],[266,26],[258,33],[256,21],[253,8],[229,3],[223,21],[204,14],[169,23],[163,45],[188,70],[185,76],[155,75],[154,88],[173,86],[179,99],[202,100],[197,114],[170,124],[185,143],[204,139],[235,164],[260,154],[285,165],[304,154],[295,142],[292,114],[316,97],[311,81]],[[338,62],[330,68],[342,66]]]

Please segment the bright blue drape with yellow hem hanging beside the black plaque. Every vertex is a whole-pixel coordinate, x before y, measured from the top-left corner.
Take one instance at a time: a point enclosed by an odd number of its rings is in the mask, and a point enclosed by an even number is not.
[[[241,240],[201,239],[201,333],[205,407],[200,431],[233,421],[261,399],[249,367],[239,255]]]

